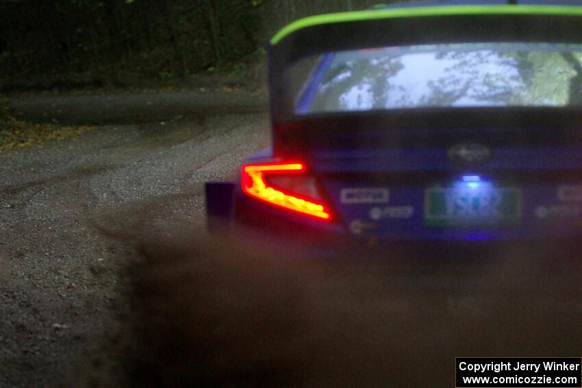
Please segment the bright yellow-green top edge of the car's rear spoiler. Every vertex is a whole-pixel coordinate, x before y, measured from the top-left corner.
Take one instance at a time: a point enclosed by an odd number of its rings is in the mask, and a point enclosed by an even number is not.
[[[522,14],[522,15],[561,15],[582,16],[582,7],[564,5],[442,5],[437,7],[394,8],[386,10],[367,10],[355,12],[338,12],[308,16],[286,25],[273,36],[270,44],[275,45],[283,38],[299,29],[314,25],[343,23],[351,21],[366,21],[385,18],[411,18],[422,16],[450,15],[485,15],[485,14]],[[582,22],[582,21],[581,21]],[[582,24],[581,24],[582,28]]]

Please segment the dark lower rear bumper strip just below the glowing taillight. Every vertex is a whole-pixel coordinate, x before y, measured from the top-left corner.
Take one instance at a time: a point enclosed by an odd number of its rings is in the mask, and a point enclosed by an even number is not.
[[[492,263],[518,255],[522,259],[582,262],[579,238],[520,240],[377,240],[355,237],[342,224],[281,213],[261,203],[238,198],[232,224],[250,240],[281,246],[283,252],[333,261],[455,265]]]

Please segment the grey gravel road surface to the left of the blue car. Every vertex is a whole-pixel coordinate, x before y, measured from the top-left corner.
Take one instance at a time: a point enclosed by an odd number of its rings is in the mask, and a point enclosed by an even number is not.
[[[136,211],[201,222],[203,181],[231,177],[268,136],[265,114],[197,112],[0,154],[0,387],[75,386],[79,360],[123,315],[131,253],[98,225],[132,227]]]

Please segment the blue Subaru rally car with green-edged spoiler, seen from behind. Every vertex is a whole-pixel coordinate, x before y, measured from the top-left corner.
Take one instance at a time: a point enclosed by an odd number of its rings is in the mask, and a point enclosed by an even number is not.
[[[211,226],[355,244],[582,237],[582,2],[454,3],[281,29],[272,146],[207,183]]]

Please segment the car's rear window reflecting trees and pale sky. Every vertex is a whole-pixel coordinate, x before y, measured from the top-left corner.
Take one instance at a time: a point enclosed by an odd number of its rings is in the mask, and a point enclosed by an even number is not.
[[[294,66],[305,68],[302,63]],[[322,55],[305,77],[303,88],[294,93],[297,114],[582,105],[582,44],[448,44],[342,51]]]

